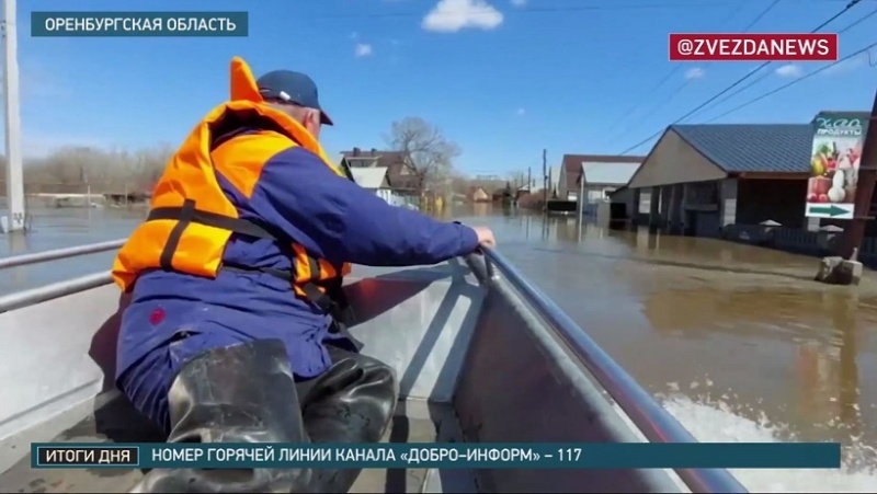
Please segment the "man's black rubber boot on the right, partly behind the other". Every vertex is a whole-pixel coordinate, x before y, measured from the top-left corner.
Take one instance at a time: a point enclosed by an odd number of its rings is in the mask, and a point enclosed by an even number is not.
[[[398,399],[399,387],[391,367],[364,355],[342,352],[308,391],[303,413],[305,427],[312,443],[375,444],[387,432]],[[314,470],[310,489],[327,494],[345,493],[360,470]]]

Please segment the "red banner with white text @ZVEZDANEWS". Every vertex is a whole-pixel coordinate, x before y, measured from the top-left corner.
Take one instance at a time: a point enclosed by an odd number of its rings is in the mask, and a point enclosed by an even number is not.
[[[836,34],[671,34],[673,61],[835,61]]]

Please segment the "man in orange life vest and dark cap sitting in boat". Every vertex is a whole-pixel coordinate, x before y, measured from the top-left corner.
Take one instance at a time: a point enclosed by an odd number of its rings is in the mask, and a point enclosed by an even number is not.
[[[113,264],[130,294],[116,384],[169,443],[375,443],[398,399],[392,369],[345,330],[350,264],[423,265],[492,245],[487,229],[394,207],[318,142],[310,78],[255,81],[195,127],[148,219]],[[346,492],[355,470],[153,470],[133,492]]]

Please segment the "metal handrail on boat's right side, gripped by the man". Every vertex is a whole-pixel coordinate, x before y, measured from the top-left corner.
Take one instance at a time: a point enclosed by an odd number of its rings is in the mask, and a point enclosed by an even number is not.
[[[618,406],[652,443],[697,443],[697,439],[642,389],[622,366],[613,360],[569,315],[548,296],[526,280],[512,263],[493,249],[485,249],[487,274],[505,282],[521,292],[525,300],[551,326],[582,365],[603,386]],[[493,268],[496,266],[497,269]],[[675,469],[676,474],[693,493],[748,493],[749,491],[724,469]]]

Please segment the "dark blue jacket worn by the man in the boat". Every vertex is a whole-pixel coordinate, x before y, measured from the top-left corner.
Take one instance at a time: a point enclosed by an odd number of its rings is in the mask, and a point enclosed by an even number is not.
[[[301,147],[265,163],[247,199],[217,172],[229,200],[244,219],[283,229],[312,254],[332,262],[372,266],[435,264],[478,246],[474,230],[390,206],[375,194],[341,179]],[[234,237],[224,262],[291,269],[289,259],[270,240]],[[149,271],[132,291],[122,318],[116,375],[156,349],[176,345],[181,333],[194,338],[170,353],[173,368],[210,347],[254,338],[286,342],[299,378],[330,366],[324,342],[330,318],[293,297],[288,284],[267,274],[220,271],[215,279]]]

